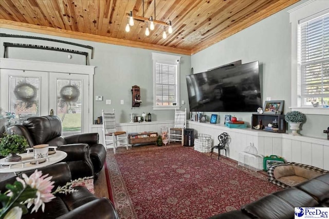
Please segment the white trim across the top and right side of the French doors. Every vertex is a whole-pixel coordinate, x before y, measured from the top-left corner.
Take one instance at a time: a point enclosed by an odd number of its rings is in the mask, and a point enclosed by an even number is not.
[[[88,103],[88,125],[93,124],[94,107],[94,74],[95,66],[74,65],[64,63],[39,62],[24,59],[0,58],[0,69],[16,69],[43,72],[60,72],[71,74],[87,74],[89,77],[89,103]],[[1,101],[1,100],[0,100]]]

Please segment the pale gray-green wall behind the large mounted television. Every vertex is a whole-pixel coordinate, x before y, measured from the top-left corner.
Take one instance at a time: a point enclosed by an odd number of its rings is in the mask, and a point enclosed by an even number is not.
[[[261,22],[236,33],[191,57],[194,73],[242,59],[242,63],[260,62],[263,103],[284,100],[284,112],[291,106],[291,38],[288,10],[299,2]],[[215,112],[224,123],[225,114],[236,115],[239,120],[251,121],[251,113]],[[211,112],[207,113],[208,115]],[[306,115],[301,134],[326,138],[323,130],[329,126],[329,115]]]

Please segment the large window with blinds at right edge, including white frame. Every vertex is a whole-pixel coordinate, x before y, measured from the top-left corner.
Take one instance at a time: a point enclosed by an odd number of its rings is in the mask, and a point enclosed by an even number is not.
[[[289,17],[291,108],[305,114],[328,114],[329,2],[307,1],[290,10]]]

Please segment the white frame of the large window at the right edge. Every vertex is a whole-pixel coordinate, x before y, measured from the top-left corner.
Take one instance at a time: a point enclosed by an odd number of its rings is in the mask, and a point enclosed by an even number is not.
[[[307,1],[304,4],[288,11],[291,27],[291,110],[304,114],[327,115],[328,108],[314,108],[302,106],[301,97],[301,69],[298,63],[299,23],[304,23],[329,12],[329,3],[326,1]]]

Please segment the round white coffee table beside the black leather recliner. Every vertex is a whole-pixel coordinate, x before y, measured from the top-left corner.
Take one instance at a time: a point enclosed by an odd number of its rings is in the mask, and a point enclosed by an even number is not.
[[[47,157],[33,159],[33,153],[22,153],[21,161],[17,162],[6,162],[6,158],[0,159],[0,173],[11,173],[14,172],[16,175],[23,171],[33,170],[41,167],[46,167],[48,165],[62,161],[67,153],[64,151],[56,150],[56,153],[49,154]],[[46,159],[46,161],[44,161]],[[42,162],[43,163],[39,163]],[[32,164],[31,162],[35,163]]]

